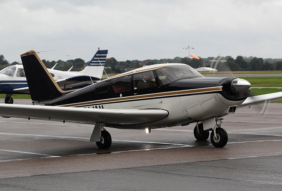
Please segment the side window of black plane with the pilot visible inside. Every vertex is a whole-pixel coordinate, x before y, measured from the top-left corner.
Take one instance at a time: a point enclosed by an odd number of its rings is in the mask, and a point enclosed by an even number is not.
[[[135,74],[133,82],[134,82],[135,90],[157,86],[153,71],[147,71],[147,72]]]

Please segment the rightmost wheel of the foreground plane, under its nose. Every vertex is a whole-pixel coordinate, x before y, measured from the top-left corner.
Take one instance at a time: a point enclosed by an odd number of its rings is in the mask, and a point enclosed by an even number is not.
[[[227,144],[228,141],[228,135],[226,130],[217,127],[216,128],[216,135],[214,135],[214,132],[212,130],[211,133],[211,142],[212,145],[215,147],[224,147]]]

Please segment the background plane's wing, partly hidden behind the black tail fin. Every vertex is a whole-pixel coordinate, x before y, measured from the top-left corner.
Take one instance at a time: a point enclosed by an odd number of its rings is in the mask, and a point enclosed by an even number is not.
[[[92,80],[92,81],[91,81]],[[57,80],[59,87],[64,90],[65,88],[73,88],[76,86],[84,85],[87,83],[100,81],[100,78],[90,76],[73,76],[61,80]],[[15,92],[29,94],[29,87],[13,89]]]

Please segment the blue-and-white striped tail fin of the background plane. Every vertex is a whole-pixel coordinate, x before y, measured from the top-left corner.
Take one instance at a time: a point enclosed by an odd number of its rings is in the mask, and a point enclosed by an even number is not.
[[[89,75],[89,76],[102,78],[107,53],[108,50],[100,50],[99,48],[96,54],[91,59],[91,61],[86,66],[86,68],[84,68],[82,71],[79,72],[80,75]]]

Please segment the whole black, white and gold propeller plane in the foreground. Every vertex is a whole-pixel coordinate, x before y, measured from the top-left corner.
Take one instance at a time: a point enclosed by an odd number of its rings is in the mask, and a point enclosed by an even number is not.
[[[0,104],[0,116],[95,124],[90,141],[109,148],[104,127],[151,129],[196,123],[197,140],[227,144],[225,115],[239,107],[282,99],[282,92],[248,97],[251,84],[236,77],[204,77],[185,64],[156,64],[67,93],[34,50],[21,55],[34,105]],[[147,87],[146,87],[147,86]],[[248,97],[248,98],[247,98]]]

